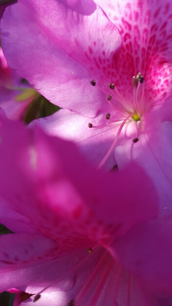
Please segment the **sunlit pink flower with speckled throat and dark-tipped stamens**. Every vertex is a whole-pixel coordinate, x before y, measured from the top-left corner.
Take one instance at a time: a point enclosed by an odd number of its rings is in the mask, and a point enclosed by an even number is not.
[[[161,214],[170,213],[172,3],[95,2],[19,0],[1,21],[5,56],[68,109],[40,120],[46,131],[75,141],[99,166],[136,160],[154,180]]]

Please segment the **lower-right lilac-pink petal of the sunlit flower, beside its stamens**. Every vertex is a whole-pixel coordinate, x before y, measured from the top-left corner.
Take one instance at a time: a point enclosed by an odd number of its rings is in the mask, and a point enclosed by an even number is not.
[[[152,126],[148,121],[146,124],[146,131],[140,134],[139,141],[135,144],[132,142],[134,134],[124,131],[121,143],[115,148],[115,159],[119,168],[129,160],[137,161],[156,187],[161,214],[170,214],[172,212],[172,122],[154,123],[152,118]]]

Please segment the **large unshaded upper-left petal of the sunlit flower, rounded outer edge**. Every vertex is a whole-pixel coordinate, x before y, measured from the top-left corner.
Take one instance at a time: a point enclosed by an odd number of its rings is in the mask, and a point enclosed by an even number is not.
[[[94,117],[106,95],[90,81],[102,76],[108,87],[103,62],[119,52],[121,38],[94,2],[79,3],[83,10],[56,0],[18,1],[4,13],[2,44],[8,64],[48,100]]]

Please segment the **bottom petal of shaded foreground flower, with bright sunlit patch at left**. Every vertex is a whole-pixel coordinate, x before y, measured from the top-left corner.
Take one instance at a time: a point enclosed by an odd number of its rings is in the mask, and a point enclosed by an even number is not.
[[[76,271],[76,284],[71,290],[43,292],[38,305],[47,305],[51,301],[51,305],[57,306],[66,306],[69,302],[76,306],[157,306],[156,300],[139,279],[118,266],[109,254],[105,255],[104,252],[101,257],[96,257],[94,261],[90,257],[90,260],[88,259],[85,265],[81,265]],[[29,305],[29,301],[31,304],[34,298],[35,296],[31,297],[21,305]]]

